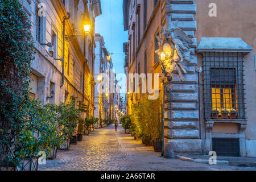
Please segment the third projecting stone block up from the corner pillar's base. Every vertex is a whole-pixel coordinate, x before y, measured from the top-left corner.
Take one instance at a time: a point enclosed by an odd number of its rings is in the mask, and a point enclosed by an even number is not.
[[[198,93],[171,92],[167,94],[167,100],[170,102],[197,102]]]

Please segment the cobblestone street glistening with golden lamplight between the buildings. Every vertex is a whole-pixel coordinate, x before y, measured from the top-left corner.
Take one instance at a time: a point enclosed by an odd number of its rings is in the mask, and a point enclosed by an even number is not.
[[[96,129],[69,151],[57,151],[55,160],[39,165],[39,170],[256,170],[256,167],[210,166],[179,159],[164,159],[153,147],[146,147],[125,134],[121,126]]]

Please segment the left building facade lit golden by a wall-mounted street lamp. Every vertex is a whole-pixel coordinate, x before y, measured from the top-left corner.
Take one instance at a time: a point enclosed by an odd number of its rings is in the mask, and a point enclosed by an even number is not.
[[[94,20],[101,14],[100,1],[20,3],[31,20],[36,50],[31,97],[42,104],[72,101],[76,107],[81,101],[88,107],[82,117],[93,115]],[[89,34],[84,30],[85,22],[90,24]]]

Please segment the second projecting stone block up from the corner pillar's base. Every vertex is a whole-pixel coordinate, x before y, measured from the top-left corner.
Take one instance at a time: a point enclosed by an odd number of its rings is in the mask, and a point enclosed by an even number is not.
[[[198,118],[198,110],[170,110],[164,112],[164,119],[170,121],[195,121]]]

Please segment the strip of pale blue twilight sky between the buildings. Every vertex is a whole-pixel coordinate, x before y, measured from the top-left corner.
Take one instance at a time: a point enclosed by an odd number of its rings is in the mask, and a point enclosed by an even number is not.
[[[101,0],[102,15],[96,18],[96,33],[104,37],[105,47],[112,54],[115,73],[124,73],[125,54],[123,43],[128,34],[123,31],[123,1]]]

